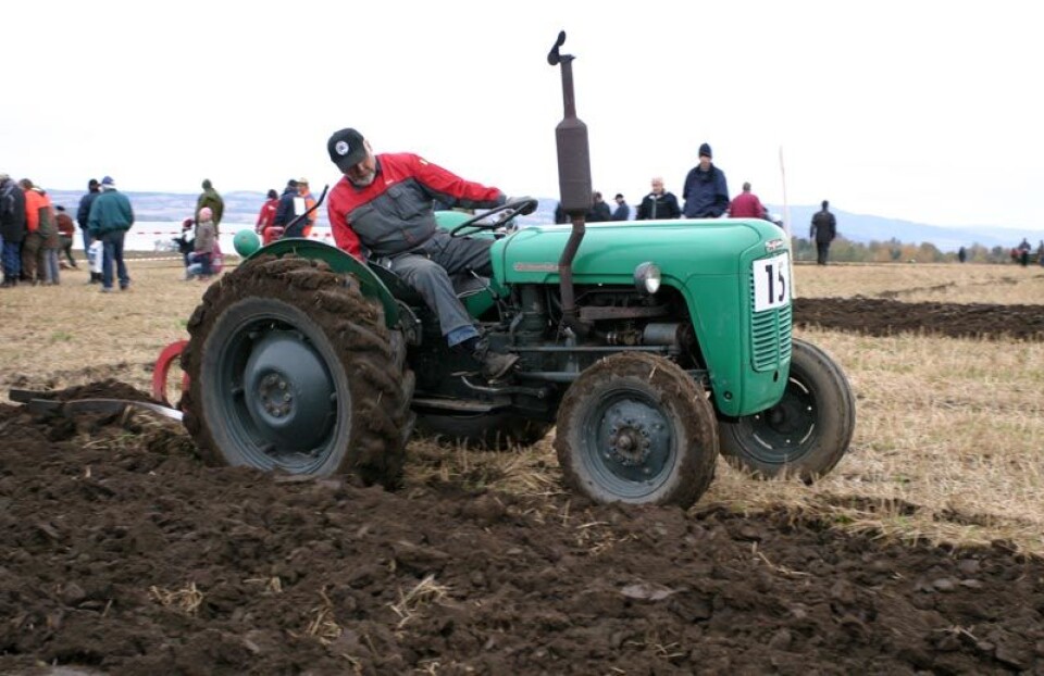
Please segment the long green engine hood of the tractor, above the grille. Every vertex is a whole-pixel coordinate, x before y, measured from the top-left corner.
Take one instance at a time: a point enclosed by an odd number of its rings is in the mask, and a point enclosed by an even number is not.
[[[507,284],[557,280],[570,230],[569,225],[542,225],[498,240],[495,278]],[[574,279],[583,284],[630,284],[634,268],[645,262],[682,283],[693,276],[736,275],[748,272],[751,259],[787,248],[783,230],[757,218],[595,223],[586,230],[573,261]]]

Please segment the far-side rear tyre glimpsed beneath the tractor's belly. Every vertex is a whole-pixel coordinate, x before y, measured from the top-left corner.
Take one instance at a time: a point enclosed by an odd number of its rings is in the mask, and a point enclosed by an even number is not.
[[[551,423],[512,413],[417,416],[417,429],[422,437],[494,451],[532,446],[547,436],[551,426]]]

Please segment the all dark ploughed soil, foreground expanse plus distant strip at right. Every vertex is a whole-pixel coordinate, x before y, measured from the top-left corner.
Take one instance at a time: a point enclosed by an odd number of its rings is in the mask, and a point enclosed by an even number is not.
[[[1044,336],[1041,308],[800,299],[795,322]],[[59,399],[92,397],[147,399]],[[1044,562],[1004,541],[293,480],[206,466],[134,409],[0,404],[0,439],[5,674],[1044,673]]]

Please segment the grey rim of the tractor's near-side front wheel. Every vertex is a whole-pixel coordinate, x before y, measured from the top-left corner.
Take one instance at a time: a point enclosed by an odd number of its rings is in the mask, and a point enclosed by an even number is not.
[[[647,496],[678,461],[670,416],[637,390],[602,397],[584,421],[584,463],[599,486],[624,499]]]

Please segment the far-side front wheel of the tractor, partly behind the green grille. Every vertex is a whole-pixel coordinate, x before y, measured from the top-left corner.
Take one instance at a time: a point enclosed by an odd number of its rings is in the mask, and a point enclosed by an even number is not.
[[[761,478],[813,481],[841,461],[856,427],[856,400],[829,354],[794,339],[786,390],[778,404],[720,420],[721,452],[734,467]]]

